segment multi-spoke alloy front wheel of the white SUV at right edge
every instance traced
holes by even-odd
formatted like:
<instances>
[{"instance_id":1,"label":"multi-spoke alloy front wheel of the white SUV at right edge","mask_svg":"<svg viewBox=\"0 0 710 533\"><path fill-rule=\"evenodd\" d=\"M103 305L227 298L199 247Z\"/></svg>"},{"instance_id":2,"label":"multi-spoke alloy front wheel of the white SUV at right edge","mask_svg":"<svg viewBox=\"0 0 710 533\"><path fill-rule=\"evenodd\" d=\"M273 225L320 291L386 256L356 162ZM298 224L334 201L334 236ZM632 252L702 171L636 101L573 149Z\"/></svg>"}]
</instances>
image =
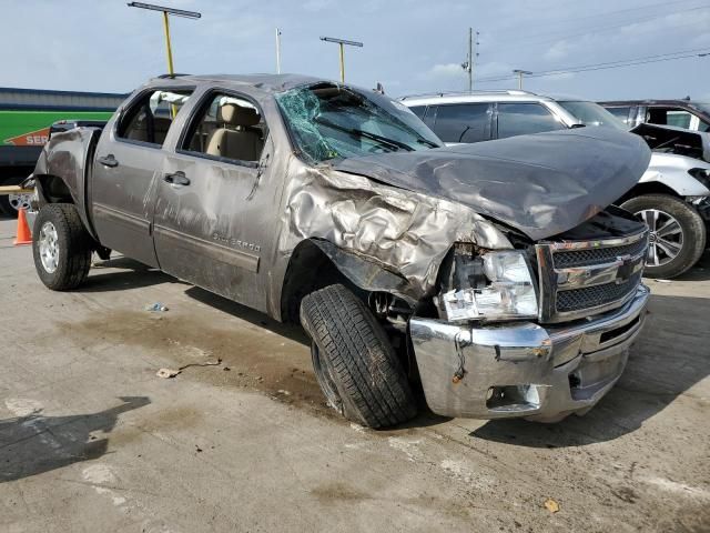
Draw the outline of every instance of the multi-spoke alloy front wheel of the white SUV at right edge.
<instances>
[{"instance_id":1,"label":"multi-spoke alloy front wheel of the white SUV at right edge","mask_svg":"<svg viewBox=\"0 0 710 533\"><path fill-rule=\"evenodd\" d=\"M706 249L706 225L696 209L669 194L643 194L621 204L650 230L645 273L649 278L676 278L698 262ZM674 224L673 224L674 222ZM662 231L667 233L663 235ZM673 233L668 233L674 229ZM671 247L672 244L672 247ZM671 257L672 253L677 253Z\"/></svg>"}]
</instances>

